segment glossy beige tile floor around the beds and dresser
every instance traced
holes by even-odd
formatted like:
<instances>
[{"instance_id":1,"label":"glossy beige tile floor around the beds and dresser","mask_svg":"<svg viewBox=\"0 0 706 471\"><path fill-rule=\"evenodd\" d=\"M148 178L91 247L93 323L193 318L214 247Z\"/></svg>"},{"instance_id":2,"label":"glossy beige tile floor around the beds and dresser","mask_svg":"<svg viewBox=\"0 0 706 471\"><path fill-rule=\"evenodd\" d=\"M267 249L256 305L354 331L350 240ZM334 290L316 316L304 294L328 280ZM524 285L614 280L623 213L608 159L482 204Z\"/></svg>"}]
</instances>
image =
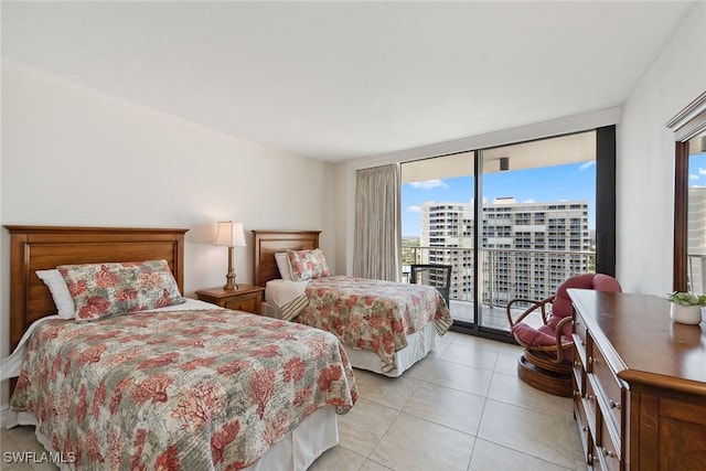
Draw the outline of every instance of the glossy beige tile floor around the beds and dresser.
<instances>
[{"instance_id":1,"label":"glossy beige tile floor around the beds and dresser","mask_svg":"<svg viewBox=\"0 0 706 471\"><path fill-rule=\"evenodd\" d=\"M359 403L339 416L339 446L310 470L586 470L571 400L520 382L520 354L448 332L399 378L356 370ZM2 451L43 450L32 427L3 429L0 438Z\"/></svg>"}]
</instances>

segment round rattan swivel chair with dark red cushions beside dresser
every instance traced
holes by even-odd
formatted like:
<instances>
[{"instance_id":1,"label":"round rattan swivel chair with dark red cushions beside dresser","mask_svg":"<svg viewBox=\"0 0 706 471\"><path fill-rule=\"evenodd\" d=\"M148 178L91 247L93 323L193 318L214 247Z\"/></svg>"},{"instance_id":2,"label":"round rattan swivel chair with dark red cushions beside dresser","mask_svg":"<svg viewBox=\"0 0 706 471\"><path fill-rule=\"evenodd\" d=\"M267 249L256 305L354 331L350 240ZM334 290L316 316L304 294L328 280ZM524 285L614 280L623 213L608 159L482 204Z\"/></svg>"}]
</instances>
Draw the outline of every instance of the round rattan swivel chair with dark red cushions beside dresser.
<instances>
[{"instance_id":1,"label":"round rattan swivel chair with dark red cushions beside dresser","mask_svg":"<svg viewBox=\"0 0 706 471\"><path fill-rule=\"evenodd\" d=\"M574 342L571 340L571 300L569 288L621 291L613 277L602 274L585 274L568 278L556 295L541 301L513 299L507 303L510 332L525 351L517 362L517 375L528 385L556 396L571 396L571 368ZM516 303L531 303L513 319L512 308ZM533 313L542 318L542 325L532 327L525 319Z\"/></svg>"}]
</instances>

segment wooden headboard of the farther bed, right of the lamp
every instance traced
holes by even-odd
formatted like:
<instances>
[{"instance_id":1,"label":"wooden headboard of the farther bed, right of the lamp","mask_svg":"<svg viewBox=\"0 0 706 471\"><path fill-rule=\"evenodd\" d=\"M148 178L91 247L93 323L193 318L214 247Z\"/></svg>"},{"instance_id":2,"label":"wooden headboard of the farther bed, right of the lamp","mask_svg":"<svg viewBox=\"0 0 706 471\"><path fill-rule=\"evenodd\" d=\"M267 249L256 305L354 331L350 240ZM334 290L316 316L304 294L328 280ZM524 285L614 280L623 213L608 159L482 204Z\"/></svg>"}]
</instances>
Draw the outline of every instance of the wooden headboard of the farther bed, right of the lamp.
<instances>
[{"instance_id":1,"label":"wooden headboard of the farther bed, right of the lamp","mask_svg":"<svg viewBox=\"0 0 706 471\"><path fill-rule=\"evenodd\" d=\"M265 286L267 281L280 278L275 253L318 248L321 231L253 231L253 282Z\"/></svg>"}]
</instances>

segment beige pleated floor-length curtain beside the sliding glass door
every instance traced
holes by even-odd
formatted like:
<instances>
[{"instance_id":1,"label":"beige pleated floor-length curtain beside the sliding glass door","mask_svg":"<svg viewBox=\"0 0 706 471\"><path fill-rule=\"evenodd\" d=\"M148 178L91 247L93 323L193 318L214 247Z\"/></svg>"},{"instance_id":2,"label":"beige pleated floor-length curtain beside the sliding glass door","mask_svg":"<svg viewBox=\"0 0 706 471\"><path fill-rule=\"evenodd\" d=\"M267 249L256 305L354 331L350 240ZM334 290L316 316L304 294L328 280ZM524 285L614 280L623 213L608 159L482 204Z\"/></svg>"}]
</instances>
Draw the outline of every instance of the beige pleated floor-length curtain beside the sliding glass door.
<instances>
[{"instance_id":1,"label":"beige pleated floor-length curtain beside the sliding glass door","mask_svg":"<svg viewBox=\"0 0 706 471\"><path fill-rule=\"evenodd\" d=\"M353 276L400 279L402 222L399 165L357 171Z\"/></svg>"}]
</instances>

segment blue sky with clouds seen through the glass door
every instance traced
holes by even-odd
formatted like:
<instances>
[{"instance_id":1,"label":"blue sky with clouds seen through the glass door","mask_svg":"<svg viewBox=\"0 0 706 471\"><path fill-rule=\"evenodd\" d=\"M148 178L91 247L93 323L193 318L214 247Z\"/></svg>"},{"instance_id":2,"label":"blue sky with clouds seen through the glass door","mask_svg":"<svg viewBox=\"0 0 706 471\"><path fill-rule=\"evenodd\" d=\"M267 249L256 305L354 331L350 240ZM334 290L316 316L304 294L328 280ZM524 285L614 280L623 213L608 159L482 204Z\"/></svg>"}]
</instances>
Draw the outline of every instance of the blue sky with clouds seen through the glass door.
<instances>
[{"instance_id":1,"label":"blue sky with clouds seen through the glass door","mask_svg":"<svg viewBox=\"0 0 706 471\"><path fill-rule=\"evenodd\" d=\"M518 203L588 201L588 227L592 229L596 227L596 161L489 173L483 176L483 196L489 202L500 196L513 196ZM403 236L419 236L421 203L469 203L472 197L473 176L404 183Z\"/></svg>"}]
</instances>

